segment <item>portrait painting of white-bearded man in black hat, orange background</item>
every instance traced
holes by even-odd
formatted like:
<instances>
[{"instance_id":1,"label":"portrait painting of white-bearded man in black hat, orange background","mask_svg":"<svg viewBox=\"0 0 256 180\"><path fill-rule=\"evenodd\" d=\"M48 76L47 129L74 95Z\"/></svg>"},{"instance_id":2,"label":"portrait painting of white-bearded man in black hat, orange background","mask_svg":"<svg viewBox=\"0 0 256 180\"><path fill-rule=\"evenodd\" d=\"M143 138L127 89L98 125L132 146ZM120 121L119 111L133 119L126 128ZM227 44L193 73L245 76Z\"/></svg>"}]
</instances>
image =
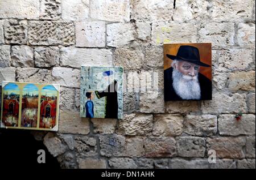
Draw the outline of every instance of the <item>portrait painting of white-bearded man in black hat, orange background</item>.
<instances>
[{"instance_id":1,"label":"portrait painting of white-bearded man in black hat, orange background","mask_svg":"<svg viewBox=\"0 0 256 180\"><path fill-rule=\"evenodd\" d=\"M164 44L164 100L212 100L212 45Z\"/></svg>"}]
</instances>

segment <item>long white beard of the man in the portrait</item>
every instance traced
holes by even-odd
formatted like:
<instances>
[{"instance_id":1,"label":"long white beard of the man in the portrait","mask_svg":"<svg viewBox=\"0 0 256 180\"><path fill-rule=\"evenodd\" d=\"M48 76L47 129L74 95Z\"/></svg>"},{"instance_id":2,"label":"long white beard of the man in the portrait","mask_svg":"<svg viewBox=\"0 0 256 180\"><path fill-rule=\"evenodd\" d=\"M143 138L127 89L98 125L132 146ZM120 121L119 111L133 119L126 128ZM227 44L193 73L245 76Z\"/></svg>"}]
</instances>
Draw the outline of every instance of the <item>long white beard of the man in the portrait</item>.
<instances>
[{"instance_id":1,"label":"long white beard of the man in the portrait","mask_svg":"<svg viewBox=\"0 0 256 180\"><path fill-rule=\"evenodd\" d=\"M183 100L199 100L201 98L198 75L194 77L183 75L174 68L172 72L172 86L176 94Z\"/></svg>"}]
</instances>

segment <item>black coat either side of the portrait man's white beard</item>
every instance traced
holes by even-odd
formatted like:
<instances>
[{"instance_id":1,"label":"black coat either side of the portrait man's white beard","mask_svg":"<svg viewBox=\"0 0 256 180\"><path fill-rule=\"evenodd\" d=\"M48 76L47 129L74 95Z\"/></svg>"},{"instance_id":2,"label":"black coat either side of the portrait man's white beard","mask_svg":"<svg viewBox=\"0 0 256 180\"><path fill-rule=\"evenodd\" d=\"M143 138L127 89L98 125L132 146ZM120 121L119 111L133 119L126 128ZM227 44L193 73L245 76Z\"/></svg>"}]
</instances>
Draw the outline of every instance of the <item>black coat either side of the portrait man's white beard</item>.
<instances>
[{"instance_id":1,"label":"black coat either side of the portrait man's white beard","mask_svg":"<svg viewBox=\"0 0 256 180\"><path fill-rule=\"evenodd\" d=\"M172 87L172 71L174 68L170 67L164 70L164 100L165 101L179 101L183 100L176 94L174 87ZM212 100L212 82L199 72L199 84L201 88L200 100Z\"/></svg>"}]
</instances>

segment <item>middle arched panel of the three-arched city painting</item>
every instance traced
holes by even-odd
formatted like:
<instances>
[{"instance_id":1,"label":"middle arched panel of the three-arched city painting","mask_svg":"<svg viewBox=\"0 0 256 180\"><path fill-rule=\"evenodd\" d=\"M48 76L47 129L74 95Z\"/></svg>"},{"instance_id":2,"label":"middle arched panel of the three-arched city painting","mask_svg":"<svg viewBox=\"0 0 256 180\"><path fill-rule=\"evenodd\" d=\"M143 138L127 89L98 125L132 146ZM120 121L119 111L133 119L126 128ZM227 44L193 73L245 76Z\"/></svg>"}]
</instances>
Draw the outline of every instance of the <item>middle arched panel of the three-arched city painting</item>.
<instances>
[{"instance_id":1,"label":"middle arched panel of the three-arched city painting","mask_svg":"<svg viewBox=\"0 0 256 180\"><path fill-rule=\"evenodd\" d=\"M36 127L38 122L38 87L27 84L22 91L22 127Z\"/></svg>"}]
</instances>

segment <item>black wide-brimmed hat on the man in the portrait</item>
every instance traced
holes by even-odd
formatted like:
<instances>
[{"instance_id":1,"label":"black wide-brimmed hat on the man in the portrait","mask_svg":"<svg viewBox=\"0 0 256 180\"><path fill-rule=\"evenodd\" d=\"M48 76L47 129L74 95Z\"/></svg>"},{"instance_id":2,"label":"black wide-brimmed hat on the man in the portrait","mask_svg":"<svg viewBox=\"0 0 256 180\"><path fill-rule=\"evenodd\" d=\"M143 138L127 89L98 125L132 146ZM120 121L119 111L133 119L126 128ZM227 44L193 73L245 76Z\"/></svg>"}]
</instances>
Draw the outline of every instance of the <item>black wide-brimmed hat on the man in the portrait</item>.
<instances>
[{"instance_id":1,"label":"black wide-brimmed hat on the man in the portrait","mask_svg":"<svg viewBox=\"0 0 256 180\"><path fill-rule=\"evenodd\" d=\"M200 61L199 50L194 46L180 46L177 55L167 54L167 57L177 61L187 61L199 66L210 67L209 65Z\"/></svg>"}]
</instances>

